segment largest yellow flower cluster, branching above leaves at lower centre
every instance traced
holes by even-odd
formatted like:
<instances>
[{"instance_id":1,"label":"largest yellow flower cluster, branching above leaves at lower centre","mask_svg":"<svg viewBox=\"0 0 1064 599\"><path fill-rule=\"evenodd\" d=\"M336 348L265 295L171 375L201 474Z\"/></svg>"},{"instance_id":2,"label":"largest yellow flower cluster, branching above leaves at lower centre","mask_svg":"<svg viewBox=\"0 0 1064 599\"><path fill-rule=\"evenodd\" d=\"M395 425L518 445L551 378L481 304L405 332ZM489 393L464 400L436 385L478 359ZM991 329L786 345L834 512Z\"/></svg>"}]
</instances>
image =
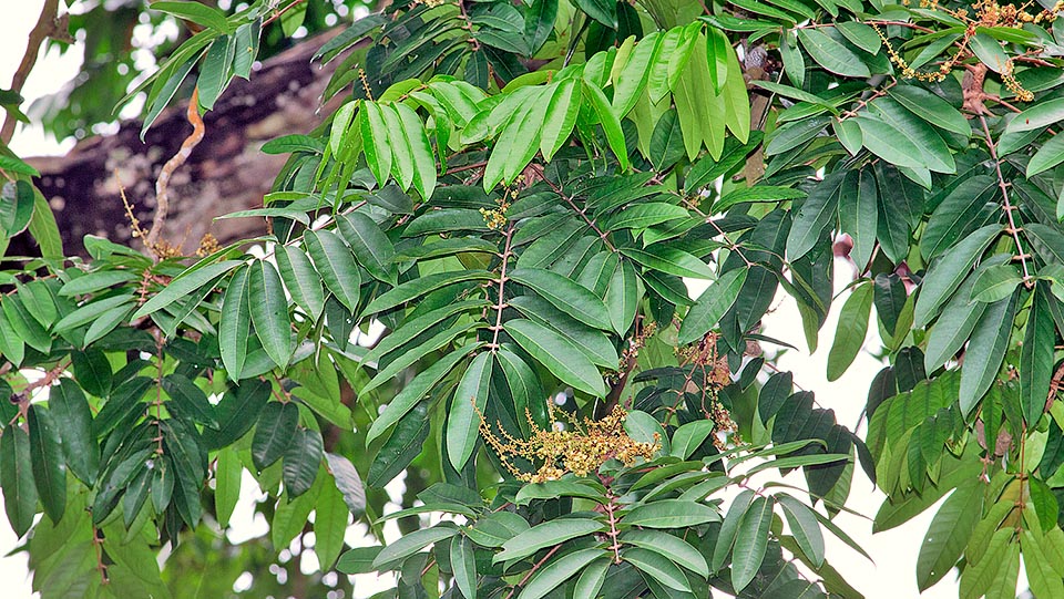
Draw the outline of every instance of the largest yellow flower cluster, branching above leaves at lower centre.
<instances>
[{"instance_id":1,"label":"largest yellow flower cluster, branching above leaves at lower centre","mask_svg":"<svg viewBox=\"0 0 1064 599\"><path fill-rule=\"evenodd\" d=\"M550 404L548 414L551 422L554 422L554 410ZM480 419L480 434L495 450L507 469L525 483L556 481L566 473L586 476L596 472L608 459L618 459L631 466L637 458L652 459L662 448L657 433L654 434L653 443L635 441L625 433L624 420L627 412L620 405L597 422L584 419L583 426L571 420L566 423L571 430L540 428L528 410L525 417L529 419L532 431L530 438L516 438L500 425L499 431L504 441L495 435L483 415ZM513 465L512 457L523 457L540 466L535 472L522 472Z\"/></svg>"}]
</instances>

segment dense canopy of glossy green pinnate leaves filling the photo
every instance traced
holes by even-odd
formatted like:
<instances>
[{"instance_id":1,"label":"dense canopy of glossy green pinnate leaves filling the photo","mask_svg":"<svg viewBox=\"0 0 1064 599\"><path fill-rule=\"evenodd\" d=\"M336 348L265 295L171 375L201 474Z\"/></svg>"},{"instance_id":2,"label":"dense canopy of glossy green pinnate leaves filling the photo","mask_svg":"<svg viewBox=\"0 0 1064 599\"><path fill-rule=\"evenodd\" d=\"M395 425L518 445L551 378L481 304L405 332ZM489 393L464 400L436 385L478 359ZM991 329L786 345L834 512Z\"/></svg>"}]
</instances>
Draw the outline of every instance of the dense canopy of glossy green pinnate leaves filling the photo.
<instances>
[{"instance_id":1,"label":"dense canopy of glossy green pinnate leaves filling the photo","mask_svg":"<svg viewBox=\"0 0 1064 599\"><path fill-rule=\"evenodd\" d=\"M153 3L200 31L129 91L144 127L253 76L306 8L283 4ZM832 521L859 462L877 530L949 494L921 589L960 565L963 597L1012 597L1022 556L1064 596L1060 10L392 2L315 56L327 122L263 147L290 158L228 217L268 233L200 259L65 257L6 152L0 226L42 255L0 301L0 486L34 586L187 593L247 471L272 551L313 531L321 571L396 572L381 597L859 597L823 540L863 552ZM863 438L763 354L794 349L760 332L779 288L818 349L837 252L828 376L870 326L889 362ZM805 488L758 476L795 468ZM371 539L345 550L351 518Z\"/></svg>"}]
</instances>

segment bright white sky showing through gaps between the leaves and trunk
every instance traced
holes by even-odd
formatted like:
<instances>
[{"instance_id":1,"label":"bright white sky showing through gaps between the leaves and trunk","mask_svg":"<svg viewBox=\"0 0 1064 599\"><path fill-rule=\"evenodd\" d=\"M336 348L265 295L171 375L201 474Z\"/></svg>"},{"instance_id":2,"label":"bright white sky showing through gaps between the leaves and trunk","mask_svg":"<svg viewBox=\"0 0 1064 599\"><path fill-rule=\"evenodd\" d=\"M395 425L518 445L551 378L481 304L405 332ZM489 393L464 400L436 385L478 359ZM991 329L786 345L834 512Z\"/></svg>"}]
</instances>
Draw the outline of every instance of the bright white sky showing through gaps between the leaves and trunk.
<instances>
[{"instance_id":1,"label":"bright white sky showing through gaps between the leaves and trunk","mask_svg":"<svg viewBox=\"0 0 1064 599\"><path fill-rule=\"evenodd\" d=\"M27 35L33 23L37 22L42 0L8 0L4 3L3 19L0 19L0 87L7 87L11 81L11 76L22 58ZM73 49L62 58L54 52L42 56L23 89L23 96L27 97L28 102L40 95L58 91L64 82L76 73L81 54L79 49ZM68 142L60 145L54 140L47 138L40 131L19 130L11 145L16 152L25 157L63 154L71 144ZM837 262L837 285L843 287L851 277L852 269L845 262ZM782 298L785 296L778 298L774 304L774 311L765 319L765 333L789 341L796 347L805 348L798 311L794 302L785 301ZM835 309L821 330L820 350L812 357L805 355L804 352L791 351L782 357L779 366L782 370L791 370L798 385L806 390L816 391L817 402L823 407L833 409L839 422L847 427L852 427L858 422L864 406L869 382L882 364L868 352L861 352L845 376L833 383L827 382L825 375L827 353L835 334L838 308L843 300L845 297L836 300ZM874 324L870 329L867 347L874 349L878 347L879 339L874 338L877 334ZM254 485L254 482L247 473L245 473L245 476L244 488L248 489ZM248 493L244 499L233 517L234 529L231 531L229 538L234 541L258 536L266 531L265 521L253 521L252 518L254 493ZM920 543L934 509L925 512L906 526L873 537L871 535L871 517L876 514L882 499L883 495L873 489L872 484L864 477L863 471L860 467L855 468L852 490L847 505L867 515L868 519L842 514L836 521L871 554L876 562L869 562L841 541L835 540L829 533L825 533L828 539L828 560L868 599L918 597L915 560ZM2 498L0 498L0 505L2 505ZM262 519L262 516L259 516L259 519ZM357 535L351 533L355 533L354 527L347 538L349 541L356 541ZM34 597L30 590L24 554L2 557L18 546L19 539L14 538L6 517L0 516L0 580L3 581L3 597L7 599ZM1022 572L1021 577L1023 577ZM361 592L358 595L361 595ZM925 599L955 599L956 583L953 576L948 575L942 582L920 597Z\"/></svg>"}]
</instances>

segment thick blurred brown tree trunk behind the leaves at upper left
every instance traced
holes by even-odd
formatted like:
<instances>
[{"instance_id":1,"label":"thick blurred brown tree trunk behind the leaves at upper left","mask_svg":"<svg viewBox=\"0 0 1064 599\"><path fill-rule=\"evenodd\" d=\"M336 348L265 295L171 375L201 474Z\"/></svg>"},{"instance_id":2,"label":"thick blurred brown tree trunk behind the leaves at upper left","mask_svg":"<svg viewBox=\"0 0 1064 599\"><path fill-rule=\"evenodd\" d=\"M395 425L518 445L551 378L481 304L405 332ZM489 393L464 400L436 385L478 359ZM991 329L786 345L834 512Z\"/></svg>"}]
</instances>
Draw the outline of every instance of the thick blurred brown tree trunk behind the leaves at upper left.
<instances>
[{"instance_id":1,"label":"thick blurred brown tree trunk behind the leaves at upper left","mask_svg":"<svg viewBox=\"0 0 1064 599\"><path fill-rule=\"evenodd\" d=\"M234 80L204 116L204 141L171 179L163 239L190 255L207 233L224 245L265 231L262 219L214 218L263 205L263 196L287 159L287 155L262 154L263 143L278 135L307 133L321 122L321 115L329 114L330 106L315 109L332 70L311 64L310 56L332 34L267 60L253 72L250 82ZM68 255L83 252L86 234L144 249L132 240L119 182L146 230L160 169L192 131L186 105L184 99L164 111L144 142L139 137L141 122L129 121L116 134L85 140L66 156L27 161L41 172L37 184L55 213ZM38 255L30 244L20 236L12 240L9 254Z\"/></svg>"}]
</instances>

